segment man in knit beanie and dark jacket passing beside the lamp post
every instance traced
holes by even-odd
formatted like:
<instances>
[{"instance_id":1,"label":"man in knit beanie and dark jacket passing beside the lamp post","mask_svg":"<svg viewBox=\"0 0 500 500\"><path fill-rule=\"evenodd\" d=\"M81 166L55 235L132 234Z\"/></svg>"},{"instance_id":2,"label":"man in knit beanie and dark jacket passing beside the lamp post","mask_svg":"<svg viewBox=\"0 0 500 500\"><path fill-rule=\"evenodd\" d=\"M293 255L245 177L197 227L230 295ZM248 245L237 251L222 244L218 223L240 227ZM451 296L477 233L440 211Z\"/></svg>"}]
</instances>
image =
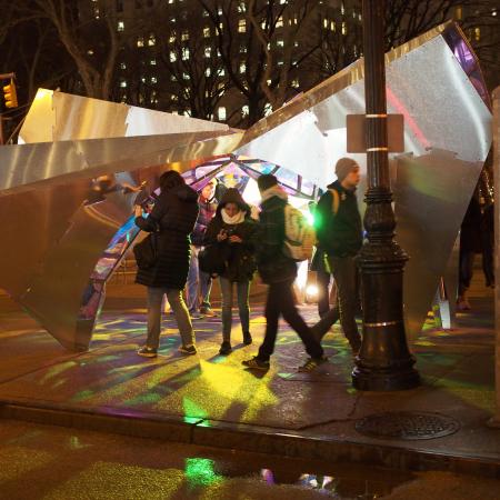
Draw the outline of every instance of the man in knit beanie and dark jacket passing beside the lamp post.
<instances>
[{"instance_id":1,"label":"man in knit beanie and dark jacket passing beside the lamp post","mask_svg":"<svg viewBox=\"0 0 500 500\"><path fill-rule=\"evenodd\" d=\"M362 224L356 198L360 181L359 166L351 158L341 158L336 164L337 180L328 186L316 209L318 244L326 254L338 288L338 304L314 327L321 340L323 326L340 318L342 330L352 352L358 353L361 337L354 314L359 299L354 257L362 246Z\"/></svg>"}]
</instances>

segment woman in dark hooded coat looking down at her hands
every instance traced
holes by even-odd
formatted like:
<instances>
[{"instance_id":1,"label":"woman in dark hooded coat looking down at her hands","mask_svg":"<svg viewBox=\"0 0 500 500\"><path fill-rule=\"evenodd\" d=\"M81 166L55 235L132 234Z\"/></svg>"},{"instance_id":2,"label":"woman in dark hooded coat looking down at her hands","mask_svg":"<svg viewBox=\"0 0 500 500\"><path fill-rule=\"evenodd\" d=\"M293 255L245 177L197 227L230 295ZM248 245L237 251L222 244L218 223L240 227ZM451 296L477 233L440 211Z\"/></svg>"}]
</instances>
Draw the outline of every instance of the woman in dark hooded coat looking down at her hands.
<instances>
[{"instance_id":1,"label":"woman in dark hooded coat looking down at her hands","mask_svg":"<svg viewBox=\"0 0 500 500\"><path fill-rule=\"evenodd\" d=\"M219 272L222 293L222 346L219 352L223 356L231 352L233 283L237 283L243 343L252 343L248 298L250 281L257 269L253 258L256 228L256 222L250 218L250 207L237 189L228 189L204 237L204 244L216 244L218 253L224 256L224 269Z\"/></svg>"}]
</instances>

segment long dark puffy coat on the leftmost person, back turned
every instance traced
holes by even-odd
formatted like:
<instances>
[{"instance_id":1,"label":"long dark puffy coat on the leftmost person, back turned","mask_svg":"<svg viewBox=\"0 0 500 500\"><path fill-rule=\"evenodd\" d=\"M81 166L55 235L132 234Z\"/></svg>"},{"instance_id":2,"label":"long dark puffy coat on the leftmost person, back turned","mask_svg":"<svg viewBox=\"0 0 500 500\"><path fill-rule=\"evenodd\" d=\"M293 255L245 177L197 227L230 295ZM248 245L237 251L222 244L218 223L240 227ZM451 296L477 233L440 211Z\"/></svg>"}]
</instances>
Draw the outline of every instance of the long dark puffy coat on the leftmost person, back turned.
<instances>
[{"instance_id":1,"label":"long dark puffy coat on the leftmost person, back turned","mask_svg":"<svg viewBox=\"0 0 500 500\"><path fill-rule=\"evenodd\" d=\"M159 224L158 261L148 269L139 269L136 282L147 287L182 290L190 260L190 237L198 218L198 194L189 186L176 186L161 192L150 216L136 218L143 231L154 231Z\"/></svg>"}]
</instances>

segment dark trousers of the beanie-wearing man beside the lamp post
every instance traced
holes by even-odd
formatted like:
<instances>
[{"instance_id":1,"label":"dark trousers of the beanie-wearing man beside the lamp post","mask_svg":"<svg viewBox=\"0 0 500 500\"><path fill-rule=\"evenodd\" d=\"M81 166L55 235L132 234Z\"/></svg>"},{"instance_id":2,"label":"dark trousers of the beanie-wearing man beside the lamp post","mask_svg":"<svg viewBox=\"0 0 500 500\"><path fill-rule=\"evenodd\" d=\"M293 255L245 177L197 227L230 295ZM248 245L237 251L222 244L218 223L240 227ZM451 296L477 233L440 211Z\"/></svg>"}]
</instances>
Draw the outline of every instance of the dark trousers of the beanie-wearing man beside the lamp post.
<instances>
[{"instance_id":1,"label":"dark trousers of the beanie-wearing man beside the lamp post","mask_svg":"<svg viewBox=\"0 0 500 500\"><path fill-rule=\"evenodd\" d=\"M313 327L314 336L321 340L329 328L340 319L343 334L349 340L353 351L361 347L361 336L356 324L356 313L359 307L358 270L353 257L329 257L333 279L338 289L337 304Z\"/></svg>"}]
</instances>

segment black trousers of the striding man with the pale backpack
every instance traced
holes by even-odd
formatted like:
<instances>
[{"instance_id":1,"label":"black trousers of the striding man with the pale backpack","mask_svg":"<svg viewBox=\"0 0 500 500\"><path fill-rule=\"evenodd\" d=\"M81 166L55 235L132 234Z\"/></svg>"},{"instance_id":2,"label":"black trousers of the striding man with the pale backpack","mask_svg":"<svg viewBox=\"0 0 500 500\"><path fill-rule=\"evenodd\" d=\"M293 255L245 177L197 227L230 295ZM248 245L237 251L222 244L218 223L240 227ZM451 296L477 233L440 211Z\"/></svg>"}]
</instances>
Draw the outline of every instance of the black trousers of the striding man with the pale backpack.
<instances>
[{"instance_id":1,"label":"black trousers of the striding man with the pale backpack","mask_svg":"<svg viewBox=\"0 0 500 500\"><path fill-rule=\"evenodd\" d=\"M266 336L257 356L261 361L269 361L269 358L274 352L280 314L283 314L284 321L299 334L300 340L306 346L307 353L311 358L321 358L323 356L323 349L320 342L314 338L311 329L306 324L296 308L292 286L293 280L271 283L269 286L264 312Z\"/></svg>"}]
</instances>

